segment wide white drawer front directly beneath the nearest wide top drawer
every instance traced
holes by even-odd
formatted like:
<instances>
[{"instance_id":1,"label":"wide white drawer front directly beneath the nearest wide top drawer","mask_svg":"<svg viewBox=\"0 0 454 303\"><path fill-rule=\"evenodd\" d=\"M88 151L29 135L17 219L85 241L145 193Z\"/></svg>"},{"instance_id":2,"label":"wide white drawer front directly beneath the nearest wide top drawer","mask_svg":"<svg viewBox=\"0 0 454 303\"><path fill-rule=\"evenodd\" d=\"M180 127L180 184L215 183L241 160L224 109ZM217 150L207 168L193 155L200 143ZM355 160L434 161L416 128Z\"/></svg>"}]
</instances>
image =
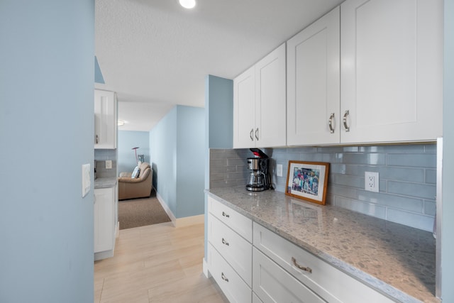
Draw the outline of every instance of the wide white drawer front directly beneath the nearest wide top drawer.
<instances>
[{"instance_id":1,"label":"wide white drawer front directly beneath the nearest wide top drawer","mask_svg":"<svg viewBox=\"0 0 454 303\"><path fill-rule=\"evenodd\" d=\"M263 303L326 302L256 248L253 258L253 291Z\"/></svg>"}]
</instances>

